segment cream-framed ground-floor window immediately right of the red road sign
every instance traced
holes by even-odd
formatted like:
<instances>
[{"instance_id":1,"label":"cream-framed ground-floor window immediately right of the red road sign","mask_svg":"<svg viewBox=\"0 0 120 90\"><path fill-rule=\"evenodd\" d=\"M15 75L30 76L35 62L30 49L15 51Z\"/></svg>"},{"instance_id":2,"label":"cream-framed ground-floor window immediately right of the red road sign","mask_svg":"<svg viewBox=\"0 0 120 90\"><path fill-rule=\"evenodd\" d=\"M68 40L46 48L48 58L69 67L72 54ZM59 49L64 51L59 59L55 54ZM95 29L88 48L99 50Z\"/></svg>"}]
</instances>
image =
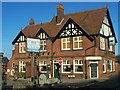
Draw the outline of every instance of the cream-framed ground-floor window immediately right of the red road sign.
<instances>
[{"instance_id":1,"label":"cream-framed ground-floor window immediately right of the red road sign","mask_svg":"<svg viewBox=\"0 0 120 90\"><path fill-rule=\"evenodd\" d=\"M70 70L71 70L70 61L63 60L62 73L70 73Z\"/></svg>"}]
</instances>

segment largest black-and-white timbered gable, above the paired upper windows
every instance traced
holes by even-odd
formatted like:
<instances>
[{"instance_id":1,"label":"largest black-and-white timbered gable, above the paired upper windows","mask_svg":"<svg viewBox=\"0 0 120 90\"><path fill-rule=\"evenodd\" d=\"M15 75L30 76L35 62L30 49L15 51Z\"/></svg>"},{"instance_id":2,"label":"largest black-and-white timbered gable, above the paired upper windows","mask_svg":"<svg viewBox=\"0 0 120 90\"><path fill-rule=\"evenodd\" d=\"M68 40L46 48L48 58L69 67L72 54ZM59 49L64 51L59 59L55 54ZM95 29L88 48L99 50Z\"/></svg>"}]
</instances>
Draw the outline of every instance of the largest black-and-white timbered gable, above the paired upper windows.
<instances>
[{"instance_id":1,"label":"largest black-and-white timbered gable, above the paired upper windows","mask_svg":"<svg viewBox=\"0 0 120 90\"><path fill-rule=\"evenodd\" d=\"M93 38L90 35L88 35L76 22L69 18L61 30L58 32L58 34L55 36L55 40L57 38L74 37L80 35L85 35L90 41L93 41Z\"/></svg>"}]
</instances>

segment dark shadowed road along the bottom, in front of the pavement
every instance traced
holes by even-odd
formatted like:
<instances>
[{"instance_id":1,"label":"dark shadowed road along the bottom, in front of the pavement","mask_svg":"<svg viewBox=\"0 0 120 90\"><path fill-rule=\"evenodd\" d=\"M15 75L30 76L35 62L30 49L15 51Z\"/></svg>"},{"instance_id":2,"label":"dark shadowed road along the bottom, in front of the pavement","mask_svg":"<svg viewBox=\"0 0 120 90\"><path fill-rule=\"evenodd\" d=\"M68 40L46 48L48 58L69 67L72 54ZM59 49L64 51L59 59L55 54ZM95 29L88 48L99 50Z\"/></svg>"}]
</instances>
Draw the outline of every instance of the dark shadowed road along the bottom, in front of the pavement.
<instances>
[{"instance_id":1,"label":"dark shadowed road along the bottom, in front of the pavement","mask_svg":"<svg viewBox=\"0 0 120 90\"><path fill-rule=\"evenodd\" d=\"M7 86L10 88L11 86ZM120 90L120 75L112 76L109 79L96 79L96 80L89 80L87 82L77 82L77 83L59 83L52 85L44 85L43 87L27 87L24 90L33 90L33 89L46 89L46 90L56 90L56 89L80 89L80 90L100 90L100 89L107 89L107 90ZM12 89L9 89L12 90Z\"/></svg>"}]
</instances>

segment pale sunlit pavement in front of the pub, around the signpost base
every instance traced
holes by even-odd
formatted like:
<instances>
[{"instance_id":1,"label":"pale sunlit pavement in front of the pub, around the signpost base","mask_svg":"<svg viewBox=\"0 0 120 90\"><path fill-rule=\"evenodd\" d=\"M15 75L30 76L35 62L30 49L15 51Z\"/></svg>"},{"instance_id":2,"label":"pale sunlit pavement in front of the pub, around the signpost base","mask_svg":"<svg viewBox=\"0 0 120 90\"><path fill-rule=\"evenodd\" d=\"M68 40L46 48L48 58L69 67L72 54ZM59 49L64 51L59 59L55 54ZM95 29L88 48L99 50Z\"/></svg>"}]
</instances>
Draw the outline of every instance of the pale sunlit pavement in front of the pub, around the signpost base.
<instances>
[{"instance_id":1,"label":"pale sunlit pavement in front of the pub, around the signpost base","mask_svg":"<svg viewBox=\"0 0 120 90\"><path fill-rule=\"evenodd\" d=\"M57 78L51 78L51 79L46 79L46 80L39 80L39 88L64 88L64 87L69 87L74 88L77 86L89 86L93 83L98 83L98 82L104 82L105 80L108 80L109 78L101 78L101 79L81 79L81 78L62 78L61 82ZM31 79L23 79L19 78L18 80L14 81L13 79L8 79L7 80L7 88L13 88L13 89L25 89L27 88L33 88L33 83L31 82ZM12 90L12 89L9 89Z\"/></svg>"}]
</instances>

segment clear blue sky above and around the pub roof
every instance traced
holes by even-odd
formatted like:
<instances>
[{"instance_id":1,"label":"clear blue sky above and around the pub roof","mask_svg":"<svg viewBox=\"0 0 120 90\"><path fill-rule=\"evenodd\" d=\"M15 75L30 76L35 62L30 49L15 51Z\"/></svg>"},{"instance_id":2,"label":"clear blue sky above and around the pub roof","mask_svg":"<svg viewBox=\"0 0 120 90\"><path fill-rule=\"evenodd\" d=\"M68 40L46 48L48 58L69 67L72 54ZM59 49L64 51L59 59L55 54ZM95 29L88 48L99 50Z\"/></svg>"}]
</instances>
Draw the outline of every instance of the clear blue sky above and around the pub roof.
<instances>
[{"instance_id":1,"label":"clear blue sky above and around the pub roof","mask_svg":"<svg viewBox=\"0 0 120 90\"><path fill-rule=\"evenodd\" d=\"M108 5L118 39L117 2L61 2L61 4L64 6L65 14L102 8ZM12 41L21 28L24 29L28 25L30 18L35 20L35 24L49 22L57 14L57 5L58 2L2 2L2 52L4 52L4 55L11 58ZM115 54L118 54L118 44Z\"/></svg>"}]
</instances>

